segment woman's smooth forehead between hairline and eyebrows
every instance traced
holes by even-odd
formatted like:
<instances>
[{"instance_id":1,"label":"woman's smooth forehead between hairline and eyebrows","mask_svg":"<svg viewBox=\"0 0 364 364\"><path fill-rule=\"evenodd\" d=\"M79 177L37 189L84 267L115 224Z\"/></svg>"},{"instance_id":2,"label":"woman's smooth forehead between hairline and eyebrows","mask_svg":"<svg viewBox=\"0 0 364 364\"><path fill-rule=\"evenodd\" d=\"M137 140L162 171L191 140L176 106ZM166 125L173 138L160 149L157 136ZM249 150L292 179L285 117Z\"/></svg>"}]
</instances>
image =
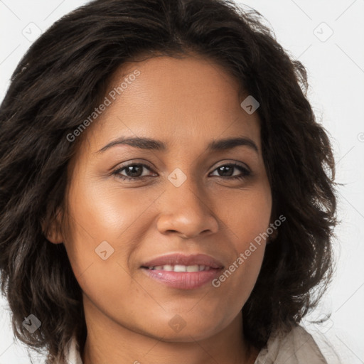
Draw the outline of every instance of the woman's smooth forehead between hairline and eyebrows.
<instances>
[{"instance_id":1,"label":"woman's smooth forehead between hairline and eyebrows","mask_svg":"<svg viewBox=\"0 0 364 364\"><path fill-rule=\"evenodd\" d=\"M120 136L191 149L243 135L260 149L257 112L247 114L240 106L247 95L240 94L239 83L224 68L200 56L124 63L105 97L107 107L87 130L94 152Z\"/></svg>"}]
</instances>

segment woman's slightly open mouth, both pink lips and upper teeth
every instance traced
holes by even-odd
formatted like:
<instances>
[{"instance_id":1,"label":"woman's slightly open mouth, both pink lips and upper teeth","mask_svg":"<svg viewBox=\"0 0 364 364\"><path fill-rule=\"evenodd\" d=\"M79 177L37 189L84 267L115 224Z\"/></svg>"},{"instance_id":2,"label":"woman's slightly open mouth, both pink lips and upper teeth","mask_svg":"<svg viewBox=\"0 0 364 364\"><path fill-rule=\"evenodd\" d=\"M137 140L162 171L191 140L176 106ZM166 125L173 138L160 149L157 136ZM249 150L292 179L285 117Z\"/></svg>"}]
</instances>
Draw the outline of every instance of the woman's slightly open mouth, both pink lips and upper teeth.
<instances>
[{"instance_id":1,"label":"woman's slightly open mouth, both pink lips and upper teeth","mask_svg":"<svg viewBox=\"0 0 364 364\"><path fill-rule=\"evenodd\" d=\"M140 267L147 277L176 289L197 289L218 277L223 264L209 255L171 254Z\"/></svg>"}]
</instances>

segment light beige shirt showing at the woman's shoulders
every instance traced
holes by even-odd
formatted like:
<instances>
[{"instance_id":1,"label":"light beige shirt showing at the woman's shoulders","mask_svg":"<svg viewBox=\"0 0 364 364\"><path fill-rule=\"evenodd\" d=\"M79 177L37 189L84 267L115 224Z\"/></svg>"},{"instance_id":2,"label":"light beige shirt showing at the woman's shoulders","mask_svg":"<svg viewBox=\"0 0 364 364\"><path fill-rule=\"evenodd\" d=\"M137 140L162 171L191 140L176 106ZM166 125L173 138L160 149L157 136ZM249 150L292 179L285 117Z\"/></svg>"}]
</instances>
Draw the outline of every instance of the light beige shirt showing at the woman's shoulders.
<instances>
[{"instance_id":1,"label":"light beige shirt showing at the woman's shoulders","mask_svg":"<svg viewBox=\"0 0 364 364\"><path fill-rule=\"evenodd\" d=\"M82 364L77 341L73 338L66 350L67 364ZM303 327L289 333L273 333L260 350L255 364L327 364L314 338Z\"/></svg>"}]
</instances>

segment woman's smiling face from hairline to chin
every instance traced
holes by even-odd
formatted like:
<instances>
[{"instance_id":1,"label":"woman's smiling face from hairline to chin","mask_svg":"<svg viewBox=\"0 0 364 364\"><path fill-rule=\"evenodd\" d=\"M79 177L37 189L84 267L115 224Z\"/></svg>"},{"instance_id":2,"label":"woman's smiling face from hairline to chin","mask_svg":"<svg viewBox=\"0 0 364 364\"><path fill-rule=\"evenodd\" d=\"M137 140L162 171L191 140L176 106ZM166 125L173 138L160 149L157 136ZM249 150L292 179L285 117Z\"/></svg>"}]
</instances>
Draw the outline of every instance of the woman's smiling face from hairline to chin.
<instances>
[{"instance_id":1,"label":"woman's smiling face from hairline to chin","mask_svg":"<svg viewBox=\"0 0 364 364\"><path fill-rule=\"evenodd\" d=\"M272 209L257 112L242 109L247 95L223 68L195 56L124 64L105 96L69 166L60 240L86 319L164 341L208 338L241 319L264 255L264 240L251 245Z\"/></svg>"}]
</instances>

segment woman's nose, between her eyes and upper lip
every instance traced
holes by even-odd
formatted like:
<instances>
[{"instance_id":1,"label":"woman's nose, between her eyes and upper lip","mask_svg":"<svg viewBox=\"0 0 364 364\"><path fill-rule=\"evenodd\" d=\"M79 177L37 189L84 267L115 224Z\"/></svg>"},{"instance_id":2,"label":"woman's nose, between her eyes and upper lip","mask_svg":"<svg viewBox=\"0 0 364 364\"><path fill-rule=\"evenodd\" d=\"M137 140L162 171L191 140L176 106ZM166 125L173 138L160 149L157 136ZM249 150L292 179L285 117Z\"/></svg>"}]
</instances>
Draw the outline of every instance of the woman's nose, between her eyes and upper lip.
<instances>
[{"instance_id":1,"label":"woman's nose, between her eyes and upper lip","mask_svg":"<svg viewBox=\"0 0 364 364\"><path fill-rule=\"evenodd\" d=\"M218 218L211 203L191 178L179 187L168 185L159 203L162 213L157 228L162 234L175 233L192 238L218 232Z\"/></svg>"}]
</instances>

